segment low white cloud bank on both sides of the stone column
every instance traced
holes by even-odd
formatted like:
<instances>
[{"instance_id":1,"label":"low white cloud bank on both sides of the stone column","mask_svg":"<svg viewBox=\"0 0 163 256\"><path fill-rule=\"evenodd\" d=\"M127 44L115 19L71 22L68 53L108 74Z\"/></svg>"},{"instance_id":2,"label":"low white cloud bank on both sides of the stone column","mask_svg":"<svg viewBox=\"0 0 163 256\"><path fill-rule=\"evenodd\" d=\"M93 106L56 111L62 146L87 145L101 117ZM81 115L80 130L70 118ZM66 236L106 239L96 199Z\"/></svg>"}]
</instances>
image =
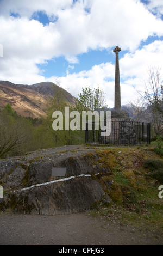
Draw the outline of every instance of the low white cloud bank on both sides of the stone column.
<instances>
[{"instance_id":1,"label":"low white cloud bank on both sides of the stone column","mask_svg":"<svg viewBox=\"0 0 163 256\"><path fill-rule=\"evenodd\" d=\"M122 105L139 96L135 89L143 91L143 81L148 78L148 69L152 65L163 67L162 59L163 45L161 41L154 41L135 53L125 54L120 59ZM76 97L82 92L82 87L97 88L99 86L106 94L109 107L114 107L115 65L112 63L95 65L90 70L67 74L58 79L61 86L65 89L70 88L70 93ZM55 82L56 77L51 77L50 80Z\"/></svg>"}]
</instances>

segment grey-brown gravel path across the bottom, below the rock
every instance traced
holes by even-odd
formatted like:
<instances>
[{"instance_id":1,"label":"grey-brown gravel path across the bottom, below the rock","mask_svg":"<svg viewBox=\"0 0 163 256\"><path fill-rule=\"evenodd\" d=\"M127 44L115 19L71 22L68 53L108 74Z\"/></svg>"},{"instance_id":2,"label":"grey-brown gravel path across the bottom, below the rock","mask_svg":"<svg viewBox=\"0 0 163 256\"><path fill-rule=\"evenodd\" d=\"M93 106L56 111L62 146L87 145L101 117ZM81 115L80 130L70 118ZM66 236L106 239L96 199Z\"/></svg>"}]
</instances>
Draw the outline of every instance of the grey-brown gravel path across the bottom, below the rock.
<instances>
[{"instance_id":1,"label":"grey-brown gravel path across the bottom, below the rock","mask_svg":"<svg viewBox=\"0 0 163 256\"><path fill-rule=\"evenodd\" d=\"M0 214L0 245L162 245L163 235L86 213Z\"/></svg>"}]
</instances>

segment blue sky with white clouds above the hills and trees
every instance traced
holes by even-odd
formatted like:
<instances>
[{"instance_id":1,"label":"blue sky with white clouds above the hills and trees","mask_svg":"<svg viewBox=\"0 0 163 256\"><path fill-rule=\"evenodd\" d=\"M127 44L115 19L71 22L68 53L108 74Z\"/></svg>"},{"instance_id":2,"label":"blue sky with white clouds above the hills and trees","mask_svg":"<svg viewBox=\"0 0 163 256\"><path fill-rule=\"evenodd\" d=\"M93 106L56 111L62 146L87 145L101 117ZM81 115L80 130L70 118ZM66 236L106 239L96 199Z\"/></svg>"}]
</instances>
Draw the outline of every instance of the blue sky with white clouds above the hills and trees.
<instances>
[{"instance_id":1,"label":"blue sky with white clouds above the hills and trees","mask_svg":"<svg viewBox=\"0 0 163 256\"><path fill-rule=\"evenodd\" d=\"M162 0L0 0L0 80L54 82L78 97L101 88L114 107L139 97L151 66L163 69Z\"/></svg>"}]
</instances>

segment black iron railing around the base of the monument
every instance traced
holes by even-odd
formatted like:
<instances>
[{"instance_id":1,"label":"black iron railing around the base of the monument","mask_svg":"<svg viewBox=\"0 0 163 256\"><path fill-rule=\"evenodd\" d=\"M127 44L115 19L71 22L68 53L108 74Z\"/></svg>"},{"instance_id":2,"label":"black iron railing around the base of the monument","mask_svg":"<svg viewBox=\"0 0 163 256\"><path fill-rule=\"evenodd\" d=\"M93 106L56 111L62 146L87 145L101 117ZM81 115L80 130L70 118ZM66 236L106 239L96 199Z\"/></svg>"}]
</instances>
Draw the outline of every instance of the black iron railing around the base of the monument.
<instances>
[{"instance_id":1,"label":"black iron railing around the base of the monument","mask_svg":"<svg viewBox=\"0 0 163 256\"><path fill-rule=\"evenodd\" d=\"M136 121L111 121L109 136L101 136L99 127L95 129L95 122L86 123L85 143L104 145L145 145L150 144L150 123Z\"/></svg>"}]
</instances>

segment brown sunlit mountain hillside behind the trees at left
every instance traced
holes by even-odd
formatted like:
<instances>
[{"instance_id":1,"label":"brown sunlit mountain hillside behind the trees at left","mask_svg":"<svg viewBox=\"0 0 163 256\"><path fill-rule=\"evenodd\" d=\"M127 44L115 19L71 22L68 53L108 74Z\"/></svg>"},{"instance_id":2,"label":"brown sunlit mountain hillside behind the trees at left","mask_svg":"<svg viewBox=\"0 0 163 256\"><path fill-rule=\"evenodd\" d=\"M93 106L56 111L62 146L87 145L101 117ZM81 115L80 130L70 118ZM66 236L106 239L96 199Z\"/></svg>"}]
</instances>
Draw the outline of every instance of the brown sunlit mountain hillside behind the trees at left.
<instances>
[{"instance_id":1,"label":"brown sunlit mountain hillside behind the trees at left","mask_svg":"<svg viewBox=\"0 0 163 256\"><path fill-rule=\"evenodd\" d=\"M46 115L46 105L58 86L52 82L32 85L0 81L0 109L10 103L14 111L23 117L40 118ZM60 88L60 90L64 90ZM75 98L65 91L65 100L74 105Z\"/></svg>"}]
</instances>

